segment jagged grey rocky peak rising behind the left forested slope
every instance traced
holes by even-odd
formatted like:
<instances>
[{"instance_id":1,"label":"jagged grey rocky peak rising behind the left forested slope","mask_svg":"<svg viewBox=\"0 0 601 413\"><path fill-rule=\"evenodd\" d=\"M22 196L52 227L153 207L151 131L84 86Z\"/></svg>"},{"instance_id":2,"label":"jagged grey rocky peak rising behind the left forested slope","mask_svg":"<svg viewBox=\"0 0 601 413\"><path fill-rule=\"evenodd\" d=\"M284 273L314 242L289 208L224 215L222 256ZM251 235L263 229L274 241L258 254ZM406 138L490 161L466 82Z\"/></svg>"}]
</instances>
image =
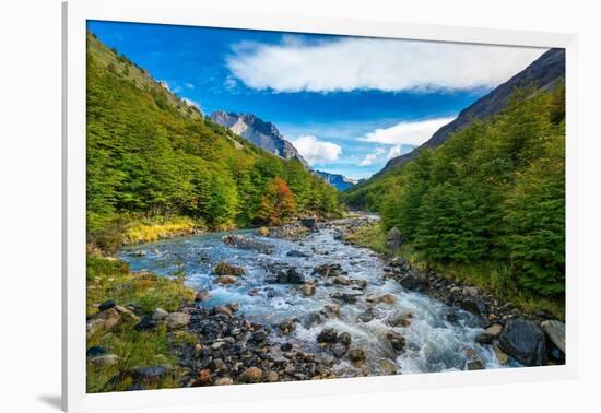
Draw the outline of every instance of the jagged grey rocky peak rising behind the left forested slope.
<instances>
[{"instance_id":1,"label":"jagged grey rocky peak rising behind the left forested slope","mask_svg":"<svg viewBox=\"0 0 601 413\"><path fill-rule=\"evenodd\" d=\"M296 148L280 133L275 125L259 119L252 114L233 114L217 110L211 114L211 120L232 132L245 138L255 145L284 160L296 160L308 170L311 167L296 151Z\"/></svg>"}]
</instances>

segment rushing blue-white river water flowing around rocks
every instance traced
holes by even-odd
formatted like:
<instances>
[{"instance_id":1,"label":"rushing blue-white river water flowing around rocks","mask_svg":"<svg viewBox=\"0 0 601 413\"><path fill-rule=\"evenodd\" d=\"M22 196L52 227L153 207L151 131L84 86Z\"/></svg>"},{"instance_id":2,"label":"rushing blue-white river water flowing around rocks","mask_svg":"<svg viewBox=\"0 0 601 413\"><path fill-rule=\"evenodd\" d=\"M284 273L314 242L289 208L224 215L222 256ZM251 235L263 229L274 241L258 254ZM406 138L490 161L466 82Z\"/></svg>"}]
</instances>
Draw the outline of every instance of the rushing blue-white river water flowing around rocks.
<instances>
[{"instance_id":1,"label":"rushing blue-white river water flowing around rocks","mask_svg":"<svg viewBox=\"0 0 601 413\"><path fill-rule=\"evenodd\" d=\"M190 287L209 292L209 298L199 302L199 306L212 308L238 303L239 311L248 320L273 326L270 339L274 342L292 342L319 355L323 351L316 339L323 329L349 332L353 346L366 352L366 361L360 368L345 357L337 358L333 370L339 377L463 370L474 352L487 369L507 367L499 363L492 346L474 342L484 331L481 320L427 295L404 290L394 280L386 280L386 263L378 255L337 239L335 225L337 222L332 222L302 240L261 237L254 231L174 238L127 247L119 258L128 262L132 271L161 275L182 272ZM273 250L261 253L226 245L222 237L228 234L269 244ZM291 257L290 251L300 251L308 257ZM222 261L245 269L237 284L215 282L212 269ZM337 285L314 273L316 267L327 263L339 263L346 279L356 280L354 284ZM314 280L315 295L303 295L299 285L270 282L273 274L269 269L282 264ZM362 283L364 287L356 285ZM337 293L353 295L356 302L341 303ZM386 295L392 295L393 299L378 299ZM337 305L339 317L319 317L326 306ZM408 322L394 326L390 322L394 318ZM282 335L276 326L293 319L298 320L296 329L290 335ZM387 338L391 331L405 339L404 351L396 352L391 347Z\"/></svg>"}]
</instances>

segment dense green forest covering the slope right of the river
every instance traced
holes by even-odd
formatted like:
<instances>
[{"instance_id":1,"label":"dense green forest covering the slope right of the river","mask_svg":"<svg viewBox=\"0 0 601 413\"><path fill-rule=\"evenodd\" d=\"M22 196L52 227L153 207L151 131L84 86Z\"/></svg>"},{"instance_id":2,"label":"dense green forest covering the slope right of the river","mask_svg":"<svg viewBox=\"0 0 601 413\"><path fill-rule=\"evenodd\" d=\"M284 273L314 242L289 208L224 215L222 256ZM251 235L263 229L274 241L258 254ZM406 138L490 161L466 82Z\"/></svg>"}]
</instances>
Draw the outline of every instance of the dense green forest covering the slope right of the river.
<instances>
[{"instance_id":1,"label":"dense green forest covering the slope right of the river","mask_svg":"<svg viewBox=\"0 0 601 413\"><path fill-rule=\"evenodd\" d=\"M552 299L565 281L565 98L516 90L499 115L345 194L426 262L490 262L500 288Z\"/></svg>"}]
</instances>

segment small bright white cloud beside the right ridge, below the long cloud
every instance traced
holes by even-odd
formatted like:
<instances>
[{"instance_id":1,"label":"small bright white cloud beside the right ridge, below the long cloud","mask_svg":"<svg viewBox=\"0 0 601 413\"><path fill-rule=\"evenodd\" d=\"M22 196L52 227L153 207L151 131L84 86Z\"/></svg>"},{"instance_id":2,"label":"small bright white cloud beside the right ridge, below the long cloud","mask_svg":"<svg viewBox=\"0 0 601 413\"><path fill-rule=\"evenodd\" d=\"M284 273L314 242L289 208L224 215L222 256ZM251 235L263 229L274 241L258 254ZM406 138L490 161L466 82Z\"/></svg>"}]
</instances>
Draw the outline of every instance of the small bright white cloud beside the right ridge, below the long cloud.
<instances>
[{"instance_id":1,"label":"small bright white cloud beside the right ridge, below the long cloud","mask_svg":"<svg viewBox=\"0 0 601 413\"><path fill-rule=\"evenodd\" d=\"M390 128L376 129L358 140L398 146L402 144L421 145L432 138L434 132L441 126L447 125L453 119L455 118L436 118L419 121L403 121ZM394 149L391 149L391 151L392 150ZM400 153L401 148L399 148L398 151Z\"/></svg>"}]
</instances>

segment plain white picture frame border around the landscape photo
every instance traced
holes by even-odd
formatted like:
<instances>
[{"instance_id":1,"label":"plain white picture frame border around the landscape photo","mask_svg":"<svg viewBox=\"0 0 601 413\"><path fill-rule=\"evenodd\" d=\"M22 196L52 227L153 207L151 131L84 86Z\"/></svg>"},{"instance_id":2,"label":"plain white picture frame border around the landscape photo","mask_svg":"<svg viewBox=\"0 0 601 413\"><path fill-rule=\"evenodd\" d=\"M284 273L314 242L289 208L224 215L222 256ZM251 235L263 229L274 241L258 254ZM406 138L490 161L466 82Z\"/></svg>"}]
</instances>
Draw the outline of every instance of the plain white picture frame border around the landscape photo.
<instances>
[{"instance_id":1,"label":"plain white picture frame border around the landscape photo","mask_svg":"<svg viewBox=\"0 0 601 413\"><path fill-rule=\"evenodd\" d=\"M193 389L94 393L85 390L85 42L86 21L123 21L358 35L438 42L566 49L566 364L481 371L347 378ZM68 411L161 408L220 401L373 393L450 386L576 378L578 373L577 93L578 39L573 34L314 19L205 10L186 0L78 1L63 3L63 237L62 406Z\"/></svg>"}]
</instances>

